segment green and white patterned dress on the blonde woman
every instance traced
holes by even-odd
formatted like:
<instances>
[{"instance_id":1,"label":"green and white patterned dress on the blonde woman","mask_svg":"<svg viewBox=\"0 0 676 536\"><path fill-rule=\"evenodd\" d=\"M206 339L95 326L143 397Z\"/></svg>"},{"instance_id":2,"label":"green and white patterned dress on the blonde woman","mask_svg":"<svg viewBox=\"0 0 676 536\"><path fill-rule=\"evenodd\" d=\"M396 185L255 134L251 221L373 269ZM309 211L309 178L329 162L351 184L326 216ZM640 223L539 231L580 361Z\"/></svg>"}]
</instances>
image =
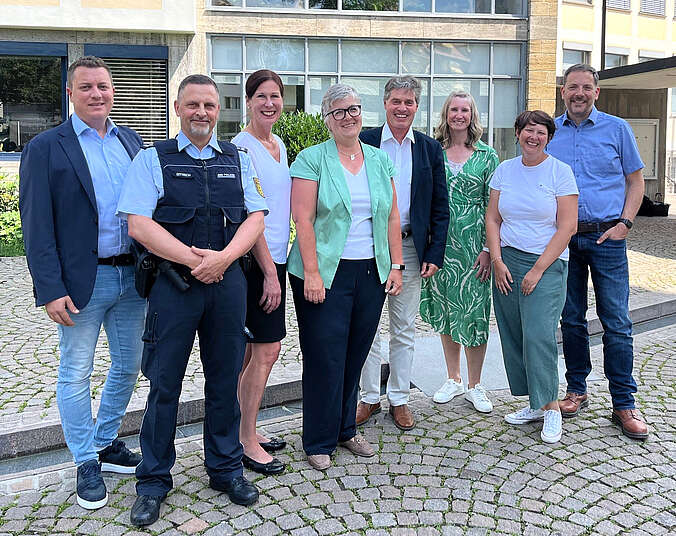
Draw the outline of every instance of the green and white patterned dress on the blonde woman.
<instances>
[{"instance_id":1,"label":"green and white patterned dress on the blonde woman","mask_svg":"<svg viewBox=\"0 0 676 536\"><path fill-rule=\"evenodd\" d=\"M484 224L491 175L500 163L494 149L478 141L457 175L444 153L450 220L443 267L423 279L420 316L434 330L464 346L488 341L490 279L481 283L472 265L486 241Z\"/></svg>"}]
</instances>

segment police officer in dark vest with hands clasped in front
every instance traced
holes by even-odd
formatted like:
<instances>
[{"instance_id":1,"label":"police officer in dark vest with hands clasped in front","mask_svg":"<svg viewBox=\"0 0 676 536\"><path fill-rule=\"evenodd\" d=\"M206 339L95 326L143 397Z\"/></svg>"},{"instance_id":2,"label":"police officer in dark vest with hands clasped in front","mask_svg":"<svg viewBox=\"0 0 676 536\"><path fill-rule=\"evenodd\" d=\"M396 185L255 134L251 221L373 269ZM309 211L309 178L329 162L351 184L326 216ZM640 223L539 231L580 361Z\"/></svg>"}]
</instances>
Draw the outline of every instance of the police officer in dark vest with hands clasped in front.
<instances>
[{"instance_id":1,"label":"police officer in dark vest with hands clasped in front","mask_svg":"<svg viewBox=\"0 0 676 536\"><path fill-rule=\"evenodd\" d=\"M129 234L171 261L189 283L181 290L161 272L148 297L141 370L150 380L141 425L143 463L136 470L131 522L149 525L172 488L176 413L188 357L199 333L204 368L204 461L209 485L250 505L256 488L242 476L237 376L245 349L246 283L238 259L263 231L267 206L251 161L214 126L218 87L204 75L185 78L174 109L175 139L134 159L118 205Z\"/></svg>"}]
</instances>

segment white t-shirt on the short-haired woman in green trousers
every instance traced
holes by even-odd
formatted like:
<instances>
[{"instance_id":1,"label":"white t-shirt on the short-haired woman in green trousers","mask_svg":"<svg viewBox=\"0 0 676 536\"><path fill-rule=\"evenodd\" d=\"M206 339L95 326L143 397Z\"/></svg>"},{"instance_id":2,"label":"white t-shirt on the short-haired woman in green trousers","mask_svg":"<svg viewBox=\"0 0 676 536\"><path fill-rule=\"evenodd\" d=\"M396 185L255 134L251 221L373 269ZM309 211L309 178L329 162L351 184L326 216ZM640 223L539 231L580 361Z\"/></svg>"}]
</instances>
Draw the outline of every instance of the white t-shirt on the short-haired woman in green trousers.
<instances>
[{"instance_id":1,"label":"white t-shirt on the short-haired woman in green trousers","mask_svg":"<svg viewBox=\"0 0 676 536\"><path fill-rule=\"evenodd\" d=\"M500 191L500 244L537 255L556 232L556 198L578 194L573 170L553 156L537 166L524 166L520 156L505 160L490 186ZM568 248L559 258L568 260Z\"/></svg>"}]
</instances>

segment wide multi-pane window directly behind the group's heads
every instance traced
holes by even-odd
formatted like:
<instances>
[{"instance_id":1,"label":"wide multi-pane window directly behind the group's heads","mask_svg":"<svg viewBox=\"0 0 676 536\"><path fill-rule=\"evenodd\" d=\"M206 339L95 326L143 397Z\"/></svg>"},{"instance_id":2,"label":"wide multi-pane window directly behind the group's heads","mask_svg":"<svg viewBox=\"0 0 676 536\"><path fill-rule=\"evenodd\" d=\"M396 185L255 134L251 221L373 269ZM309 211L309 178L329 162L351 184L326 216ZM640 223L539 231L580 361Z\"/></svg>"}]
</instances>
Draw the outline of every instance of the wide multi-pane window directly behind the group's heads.
<instances>
[{"instance_id":1,"label":"wide multi-pane window directly behind the group's heads","mask_svg":"<svg viewBox=\"0 0 676 536\"><path fill-rule=\"evenodd\" d=\"M319 112L331 84L353 86L362 99L365 128L385 122L384 87L393 75L412 74L422 82L413 126L430 135L449 93L468 91L479 108L484 141L501 158L516 155L514 118L523 109L519 43L214 36L211 74L221 92L220 138L232 138L246 121L244 81L260 68L282 77L287 111Z\"/></svg>"}]
</instances>

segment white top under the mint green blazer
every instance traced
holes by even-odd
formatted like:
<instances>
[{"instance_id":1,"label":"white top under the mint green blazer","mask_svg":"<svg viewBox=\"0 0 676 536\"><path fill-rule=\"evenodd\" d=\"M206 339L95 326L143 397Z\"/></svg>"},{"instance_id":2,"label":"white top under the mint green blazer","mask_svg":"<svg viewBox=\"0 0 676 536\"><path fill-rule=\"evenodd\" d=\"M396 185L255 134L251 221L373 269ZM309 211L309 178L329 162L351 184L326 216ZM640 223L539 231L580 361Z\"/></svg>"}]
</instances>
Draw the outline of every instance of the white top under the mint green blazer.
<instances>
[{"instance_id":1,"label":"white top under the mint green blazer","mask_svg":"<svg viewBox=\"0 0 676 536\"><path fill-rule=\"evenodd\" d=\"M362 164L356 175L343 167L345 182L350 190L352 201L352 224L347 234L341 259L372 259L376 256L373 245L373 216L371 214L371 192L366 175L366 166Z\"/></svg>"}]
</instances>

